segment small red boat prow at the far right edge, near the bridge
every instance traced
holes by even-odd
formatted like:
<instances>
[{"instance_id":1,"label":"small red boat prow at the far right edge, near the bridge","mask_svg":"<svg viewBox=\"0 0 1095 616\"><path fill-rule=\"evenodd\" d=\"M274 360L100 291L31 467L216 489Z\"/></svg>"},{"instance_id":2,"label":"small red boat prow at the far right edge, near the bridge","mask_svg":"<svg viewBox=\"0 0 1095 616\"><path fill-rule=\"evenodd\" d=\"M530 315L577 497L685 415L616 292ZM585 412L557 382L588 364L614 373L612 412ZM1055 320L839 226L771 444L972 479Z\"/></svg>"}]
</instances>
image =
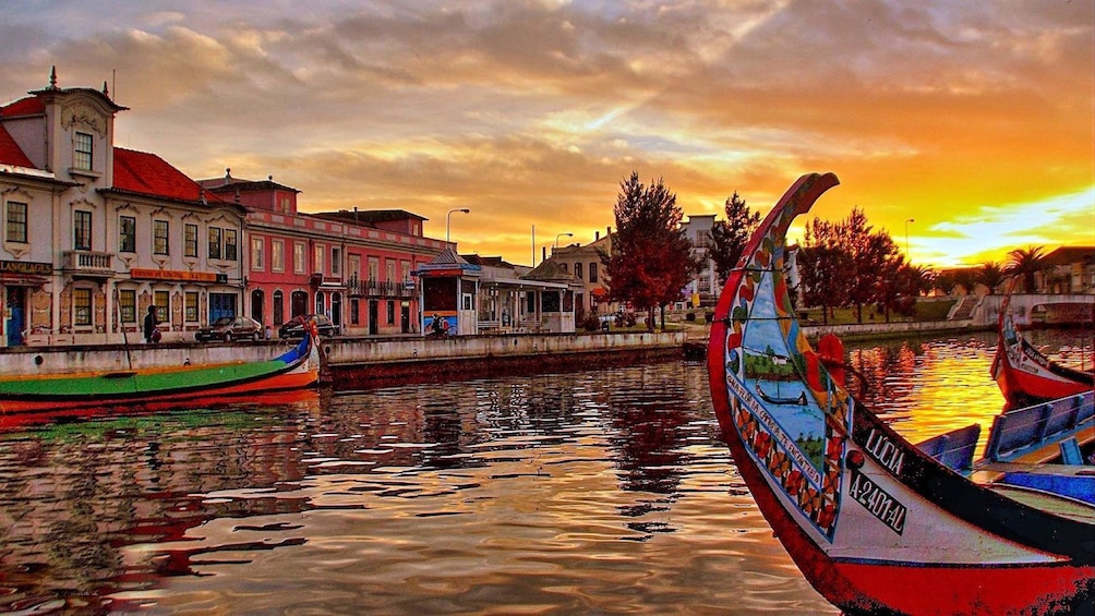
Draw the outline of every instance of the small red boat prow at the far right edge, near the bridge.
<instances>
[{"instance_id":1,"label":"small red boat prow at the far right edge, near the bridge","mask_svg":"<svg viewBox=\"0 0 1095 616\"><path fill-rule=\"evenodd\" d=\"M1095 388L1095 372L1061 365L1023 337L1012 316L1011 293L1000 306L1000 333L992 377L1010 406L1026 406Z\"/></svg>"}]
</instances>

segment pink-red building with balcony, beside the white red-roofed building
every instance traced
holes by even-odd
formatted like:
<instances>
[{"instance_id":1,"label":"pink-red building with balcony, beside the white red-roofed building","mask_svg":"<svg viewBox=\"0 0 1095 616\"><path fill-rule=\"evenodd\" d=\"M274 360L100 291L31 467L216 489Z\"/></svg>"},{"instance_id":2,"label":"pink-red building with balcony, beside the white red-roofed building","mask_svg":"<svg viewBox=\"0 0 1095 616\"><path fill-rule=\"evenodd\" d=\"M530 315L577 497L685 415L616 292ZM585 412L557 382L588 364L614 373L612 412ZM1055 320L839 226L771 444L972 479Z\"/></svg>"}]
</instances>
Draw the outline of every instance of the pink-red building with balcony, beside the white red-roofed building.
<instances>
[{"instance_id":1,"label":"pink-red building with balcony, beside the white red-roofed building","mask_svg":"<svg viewBox=\"0 0 1095 616\"><path fill-rule=\"evenodd\" d=\"M449 245L423 235L426 219L402 210L299 212L299 190L273 177L245 181L229 171L200 184L247 210L245 314L274 330L324 314L349 335L418 332L411 272Z\"/></svg>"}]
</instances>

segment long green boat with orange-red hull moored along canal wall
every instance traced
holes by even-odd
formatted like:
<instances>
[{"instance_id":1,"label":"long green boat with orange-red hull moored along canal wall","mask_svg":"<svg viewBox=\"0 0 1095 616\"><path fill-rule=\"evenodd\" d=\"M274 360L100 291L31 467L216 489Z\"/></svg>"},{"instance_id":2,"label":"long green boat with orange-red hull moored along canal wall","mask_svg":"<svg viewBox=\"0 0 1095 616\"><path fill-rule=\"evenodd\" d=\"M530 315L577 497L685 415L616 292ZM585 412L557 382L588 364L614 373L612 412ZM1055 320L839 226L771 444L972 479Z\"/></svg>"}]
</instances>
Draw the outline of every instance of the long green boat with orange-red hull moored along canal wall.
<instances>
[{"instance_id":1,"label":"long green boat with orange-red hull moored along canal wall","mask_svg":"<svg viewBox=\"0 0 1095 616\"><path fill-rule=\"evenodd\" d=\"M119 405L162 406L196 398L254 395L319 382L314 335L265 361L0 377L0 416Z\"/></svg>"}]
</instances>

